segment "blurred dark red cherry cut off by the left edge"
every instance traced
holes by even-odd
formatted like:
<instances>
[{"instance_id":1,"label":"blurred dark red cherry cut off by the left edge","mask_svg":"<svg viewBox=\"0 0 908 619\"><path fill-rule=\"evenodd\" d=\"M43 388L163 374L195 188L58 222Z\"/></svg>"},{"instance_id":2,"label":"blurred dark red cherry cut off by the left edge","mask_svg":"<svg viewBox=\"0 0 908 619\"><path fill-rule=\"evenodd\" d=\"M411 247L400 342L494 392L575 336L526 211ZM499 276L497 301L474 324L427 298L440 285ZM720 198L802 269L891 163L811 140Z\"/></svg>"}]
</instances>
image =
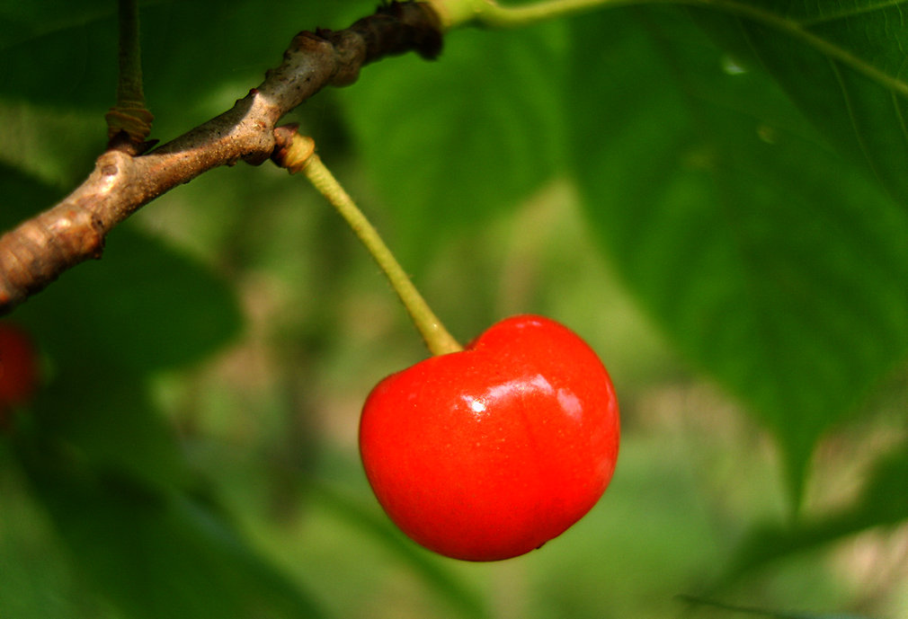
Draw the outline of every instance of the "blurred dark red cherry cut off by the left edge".
<instances>
[{"instance_id":1,"label":"blurred dark red cherry cut off by the left edge","mask_svg":"<svg viewBox=\"0 0 908 619\"><path fill-rule=\"evenodd\" d=\"M15 407L27 403L38 384L35 345L25 330L0 322L0 427Z\"/></svg>"}]
</instances>

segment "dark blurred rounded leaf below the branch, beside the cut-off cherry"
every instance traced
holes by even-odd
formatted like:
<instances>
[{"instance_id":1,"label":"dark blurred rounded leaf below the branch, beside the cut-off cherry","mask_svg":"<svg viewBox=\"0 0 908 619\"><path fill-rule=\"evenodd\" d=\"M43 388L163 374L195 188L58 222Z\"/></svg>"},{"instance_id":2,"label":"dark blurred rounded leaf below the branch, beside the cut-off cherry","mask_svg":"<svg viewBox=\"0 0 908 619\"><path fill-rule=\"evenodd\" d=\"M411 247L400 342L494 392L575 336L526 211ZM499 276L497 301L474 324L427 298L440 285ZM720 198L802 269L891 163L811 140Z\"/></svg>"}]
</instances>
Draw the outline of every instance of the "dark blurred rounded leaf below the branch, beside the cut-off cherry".
<instances>
[{"instance_id":1,"label":"dark blurred rounded leaf below the branch, beside the cut-off cherry","mask_svg":"<svg viewBox=\"0 0 908 619\"><path fill-rule=\"evenodd\" d=\"M65 272L15 317L42 334L59 363L137 371L202 359L242 325L222 278L128 225L108 236L102 260Z\"/></svg>"}]
</instances>

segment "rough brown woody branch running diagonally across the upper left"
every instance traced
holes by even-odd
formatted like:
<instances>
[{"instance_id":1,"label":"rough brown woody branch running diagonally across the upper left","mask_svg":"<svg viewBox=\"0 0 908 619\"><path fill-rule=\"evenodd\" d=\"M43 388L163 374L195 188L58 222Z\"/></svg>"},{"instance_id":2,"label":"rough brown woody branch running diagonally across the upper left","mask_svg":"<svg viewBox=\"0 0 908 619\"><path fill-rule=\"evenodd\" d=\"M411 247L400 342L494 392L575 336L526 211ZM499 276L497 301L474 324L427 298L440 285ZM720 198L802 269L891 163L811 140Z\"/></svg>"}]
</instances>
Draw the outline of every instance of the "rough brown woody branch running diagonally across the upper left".
<instances>
[{"instance_id":1,"label":"rough brown woody branch running diagonally across the upper left","mask_svg":"<svg viewBox=\"0 0 908 619\"><path fill-rule=\"evenodd\" d=\"M440 53L438 15L421 2L382 5L346 30L297 34L262 84L173 142L139 156L113 145L63 201L0 237L0 314L100 258L109 231L173 187L221 165L266 161L276 123L324 86L352 84L363 65L409 51L427 59Z\"/></svg>"}]
</instances>

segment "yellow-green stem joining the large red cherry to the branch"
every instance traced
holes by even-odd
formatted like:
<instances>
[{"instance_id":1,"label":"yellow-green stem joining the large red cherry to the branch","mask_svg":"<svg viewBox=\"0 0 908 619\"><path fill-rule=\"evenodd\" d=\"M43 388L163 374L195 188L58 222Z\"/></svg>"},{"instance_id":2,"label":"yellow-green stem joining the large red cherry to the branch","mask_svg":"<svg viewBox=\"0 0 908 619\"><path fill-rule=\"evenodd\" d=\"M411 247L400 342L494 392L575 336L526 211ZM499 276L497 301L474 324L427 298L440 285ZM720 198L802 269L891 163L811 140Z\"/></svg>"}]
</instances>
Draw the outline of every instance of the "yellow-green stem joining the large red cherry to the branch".
<instances>
[{"instance_id":1,"label":"yellow-green stem joining the large red cherry to the branch","mask_svg":"<svg viewBox=\"0 0 908 619\"><path fill-rule=\"evenodd\" d=\"M344 221L347 221L350 229L366 246L385 277L388 278L391 288L397 292L400 301L410 314L410 319L426 342L429 352L433 355L445 355L449 352L463 350L457 339L451 336L448 329L445 329L432 309L429 308L429 304L419 294L419 290L416 290L416 286L400 267L394 254L381 240L379 232L314 151L315 143L311 138L294 134L283 165L290 172L303 172L312 186L327 198Z\"/></svg>"}]
</instances>

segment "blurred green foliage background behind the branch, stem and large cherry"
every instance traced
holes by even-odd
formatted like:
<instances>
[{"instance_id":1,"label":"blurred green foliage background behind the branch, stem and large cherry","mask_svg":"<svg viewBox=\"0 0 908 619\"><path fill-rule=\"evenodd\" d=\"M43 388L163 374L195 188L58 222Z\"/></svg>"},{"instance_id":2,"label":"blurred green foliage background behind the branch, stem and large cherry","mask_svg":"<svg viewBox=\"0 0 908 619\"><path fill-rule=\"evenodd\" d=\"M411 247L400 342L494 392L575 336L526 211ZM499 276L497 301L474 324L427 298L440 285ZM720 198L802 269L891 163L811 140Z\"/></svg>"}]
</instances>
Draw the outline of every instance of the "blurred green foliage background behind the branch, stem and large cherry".
<instances>
[{"instance_id":1,"label":"blurred green foliage background behind the branch, stem and large cherry","mask_svg":"<svg viewBox=\"0 0 908 619\"><path fill-rule=\"evenodd\" d=\"M301 179L237 166L11 317L46 380L0 437L0 617L905 616L908 29L783 5L453 32L292 114L461 339L536 311L606 361L621 460L567 534L471 565L390 526L356 424L419 338ZM372 9L143 3L152 137ZM8 229L104 147L115 5L2 1L0 60Z\"/></svg>"}]
</instances>

